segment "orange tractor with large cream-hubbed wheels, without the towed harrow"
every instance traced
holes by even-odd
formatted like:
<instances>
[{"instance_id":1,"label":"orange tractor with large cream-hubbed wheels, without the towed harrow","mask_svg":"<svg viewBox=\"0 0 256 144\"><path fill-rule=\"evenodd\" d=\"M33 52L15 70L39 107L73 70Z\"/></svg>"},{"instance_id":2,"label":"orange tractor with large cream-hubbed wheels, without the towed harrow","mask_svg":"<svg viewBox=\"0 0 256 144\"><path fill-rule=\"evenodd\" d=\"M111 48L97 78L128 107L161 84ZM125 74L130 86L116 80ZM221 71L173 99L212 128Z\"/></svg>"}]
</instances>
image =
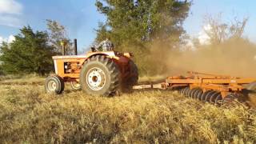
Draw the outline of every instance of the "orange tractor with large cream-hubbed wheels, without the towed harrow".
<instances>
[{"instance_id":1,"label":"orange tractor with large cream-hubbed wheels, without the towed harrow","mask_svg":"<svg viewBox=\"0 0 256 144\"><path fill-rule=\"evenodd\" d=\"M76 40L74 41L77 53ZM62 94L65 82L74 90L82 89L92 95L113 95L117 90L131 90L138 82L138 69L131 60L131 53L115 51L95 52L85 55L54 56L55 74L46 78L48 93Z\"/></svg>"}]
</instances>

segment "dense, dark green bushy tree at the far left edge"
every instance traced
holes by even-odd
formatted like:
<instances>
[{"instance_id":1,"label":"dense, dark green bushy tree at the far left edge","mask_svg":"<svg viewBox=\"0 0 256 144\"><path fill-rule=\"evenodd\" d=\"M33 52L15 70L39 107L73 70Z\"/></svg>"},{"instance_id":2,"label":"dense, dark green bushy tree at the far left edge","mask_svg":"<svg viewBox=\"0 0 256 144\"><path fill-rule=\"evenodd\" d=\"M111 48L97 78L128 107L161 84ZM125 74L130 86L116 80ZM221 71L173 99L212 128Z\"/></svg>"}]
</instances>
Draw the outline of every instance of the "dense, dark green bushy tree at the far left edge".
<instances>
[{"instance_id":1,"label":"dense, dark green bushy tree at the far left edge","mask_svg":"<svg viewBox=\"0 0 256 144\"><path fill-rule=\"evenodd\" d=\"M54 48L48 45L45 31L34 32L30 26L24 26L15 41L0 47L0 61L6 74L45 74L53 68L51 56Z\"/></svg>"}]
</instances>

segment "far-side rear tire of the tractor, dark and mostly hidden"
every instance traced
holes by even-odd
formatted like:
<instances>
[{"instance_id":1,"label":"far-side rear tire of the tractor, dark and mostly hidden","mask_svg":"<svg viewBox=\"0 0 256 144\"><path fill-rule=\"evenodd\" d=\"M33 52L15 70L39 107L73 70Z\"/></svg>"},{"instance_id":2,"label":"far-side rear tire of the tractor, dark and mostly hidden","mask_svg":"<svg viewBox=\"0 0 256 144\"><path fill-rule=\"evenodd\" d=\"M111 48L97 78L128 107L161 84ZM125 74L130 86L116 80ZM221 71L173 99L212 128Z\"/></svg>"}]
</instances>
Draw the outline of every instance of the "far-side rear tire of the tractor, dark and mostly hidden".
<instances>
[{"instance_id":1,"label":"far-side rear tire of the tractor, dark and mostly hidden","mask_svg":"<svg viewBox=\"0 0 256 144\"><path fill-rule=\"evenodd\" d=\"M130 92L133 86L138 84L138 67L132 60L129 61L129 67L130 74L122 79L122 92Z\"/></svg>"}]
</instances>

